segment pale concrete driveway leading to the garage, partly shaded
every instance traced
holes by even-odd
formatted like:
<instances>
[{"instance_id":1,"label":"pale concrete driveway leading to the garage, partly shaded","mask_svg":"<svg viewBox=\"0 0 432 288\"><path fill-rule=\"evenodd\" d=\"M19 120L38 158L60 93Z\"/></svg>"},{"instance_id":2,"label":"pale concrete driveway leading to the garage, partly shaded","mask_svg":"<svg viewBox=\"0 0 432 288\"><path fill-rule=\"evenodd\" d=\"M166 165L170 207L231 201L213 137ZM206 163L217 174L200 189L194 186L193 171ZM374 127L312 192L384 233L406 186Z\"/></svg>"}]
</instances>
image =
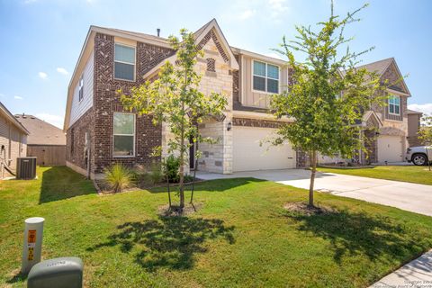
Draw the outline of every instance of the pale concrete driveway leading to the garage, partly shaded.
<instances>
[{"instance_id":1,"label":"pale concrete driveway leading to the garage, partly shaded","mask_svg":"<svg viewBox=\"0 0 432 288\"><path fill-rule=\"evenodd\" d=\"M304 189L309 189L310 175L311 171L304 169L237 172L232 175L197 172L197 177L204 180L254 177ZM432 216L432 185L317 173L315 190Z\"/></svg>"}]
</instances>

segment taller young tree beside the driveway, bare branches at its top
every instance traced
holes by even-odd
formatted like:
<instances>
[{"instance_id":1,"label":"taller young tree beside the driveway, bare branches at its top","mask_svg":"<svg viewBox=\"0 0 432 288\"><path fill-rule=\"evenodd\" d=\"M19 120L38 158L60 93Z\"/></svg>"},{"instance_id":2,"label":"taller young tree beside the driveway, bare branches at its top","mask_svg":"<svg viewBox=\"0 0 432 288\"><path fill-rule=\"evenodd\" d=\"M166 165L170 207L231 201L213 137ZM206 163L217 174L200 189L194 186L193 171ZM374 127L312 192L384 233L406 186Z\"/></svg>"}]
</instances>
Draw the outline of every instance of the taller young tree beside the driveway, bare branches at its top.
<instances>
[{"instance_id":1,"label":"taller young tree beside the driveway, bare branches at its top","mask_svg":"<svg viewBox=\"0 0 432 288\"><path fill-rule=\"evenodd\" d=\"M379 77L365 68L356 68L358 58L372 48L356 53L347 47L339 55L351 40L344 36L346 26L358 22L356 14L366 6L340 18L333 14L332 3L329 20L318 23L320 31L297 26L296 40L287 41L284 37L281 48L275 49L288 58L291 81L286 91L273 97L272 109L276 117L292 117L293 123L284 124L271 142L278 145L289 140L309 154L310 206L317 154L354 157L356 151L364 149L356 121L383 100L383 96L378 96L382 88ZM305 60L294 58L294 51L304 55Z\"/></svg>"}]
</instances>

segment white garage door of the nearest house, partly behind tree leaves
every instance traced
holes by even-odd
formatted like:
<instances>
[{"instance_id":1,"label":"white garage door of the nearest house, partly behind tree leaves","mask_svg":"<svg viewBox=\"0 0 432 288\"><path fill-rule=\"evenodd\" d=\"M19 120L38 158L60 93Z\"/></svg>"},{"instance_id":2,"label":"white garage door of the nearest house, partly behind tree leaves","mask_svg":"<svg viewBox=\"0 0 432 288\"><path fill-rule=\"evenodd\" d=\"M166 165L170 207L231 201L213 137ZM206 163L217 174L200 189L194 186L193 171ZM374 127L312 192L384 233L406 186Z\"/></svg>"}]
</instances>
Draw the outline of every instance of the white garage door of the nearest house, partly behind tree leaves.
<instances>
[{"instance_id":1,"label":"white garage door of the nearest house, partly behind tree leaves","mask_svg":"<svg viewBox=\"0 0 432 288\"><path fill-rule=\"evenodd\" d=\"M295 151L290 144L269 146L260 141L275 135L275 129L234 126L233 171L285 169L295 167ZM267 150L268 148L268 150Z\"/></svg>"}]
</instances>

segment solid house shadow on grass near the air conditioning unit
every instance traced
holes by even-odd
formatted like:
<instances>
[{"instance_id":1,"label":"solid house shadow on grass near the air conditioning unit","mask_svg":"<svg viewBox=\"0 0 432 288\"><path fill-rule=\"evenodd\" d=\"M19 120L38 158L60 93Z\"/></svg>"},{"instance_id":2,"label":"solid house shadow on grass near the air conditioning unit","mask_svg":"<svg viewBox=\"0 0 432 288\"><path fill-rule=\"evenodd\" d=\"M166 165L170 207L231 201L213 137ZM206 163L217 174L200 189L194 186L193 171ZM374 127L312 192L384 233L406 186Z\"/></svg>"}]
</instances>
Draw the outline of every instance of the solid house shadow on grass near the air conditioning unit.
<instances>
[{"instance_id":1,"label":"solid house shadow on grass near the air conditioning unit","mask_svg":"<svg viewBox=\"0 0 432 288\"><path fill-rule=\"evenodd\" d=\"M67 166L51 166L42 173L39 203L96 193L93 182Z\"/></svg>"}]
</instances>

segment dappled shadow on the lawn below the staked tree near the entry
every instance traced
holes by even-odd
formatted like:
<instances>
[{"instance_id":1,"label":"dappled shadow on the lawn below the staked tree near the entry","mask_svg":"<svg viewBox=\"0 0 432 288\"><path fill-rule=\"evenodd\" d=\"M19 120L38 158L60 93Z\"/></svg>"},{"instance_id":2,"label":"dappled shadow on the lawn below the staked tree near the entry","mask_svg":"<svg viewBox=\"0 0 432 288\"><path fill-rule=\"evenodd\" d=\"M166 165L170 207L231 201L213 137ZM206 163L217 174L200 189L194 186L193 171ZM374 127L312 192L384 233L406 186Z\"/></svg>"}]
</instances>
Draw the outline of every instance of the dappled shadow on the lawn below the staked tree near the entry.
<instances>
[{"instance_id":1,"label":"dappled shadow on the lawn below the staked tree near the entry","mask_svg":"<svg viewBox=\"0 0 432 288\"><path fill-rule=\"evenodd\" d=\"M159 216L157 220L125 222L117 229L107 241L86 250L119 246L121 252L130 253L136 247L139 252L135 262L148 271L158 267L191 269L194 254L207 252L203 245L206 240L225 238L230 244L235 242L234 227L226 227L218 219Z\"/></svg>"}]
</instances>

